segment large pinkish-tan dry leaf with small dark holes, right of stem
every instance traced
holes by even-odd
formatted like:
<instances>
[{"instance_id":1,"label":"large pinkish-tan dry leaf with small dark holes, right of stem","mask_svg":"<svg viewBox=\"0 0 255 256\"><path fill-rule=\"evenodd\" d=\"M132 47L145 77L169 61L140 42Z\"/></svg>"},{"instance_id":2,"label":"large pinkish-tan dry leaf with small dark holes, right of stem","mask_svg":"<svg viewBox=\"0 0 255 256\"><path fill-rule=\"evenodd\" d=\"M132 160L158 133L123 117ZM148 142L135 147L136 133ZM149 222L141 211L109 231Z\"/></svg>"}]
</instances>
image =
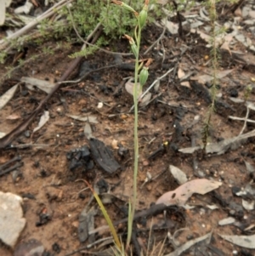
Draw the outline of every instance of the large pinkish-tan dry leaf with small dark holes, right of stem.
<instances>
[{"instance_id":1,"label":"large pinkish-tan dry leaf with small dark holes, right of stem","mask_svg":"<svg viewBox=\"0 0 255 256\"><path fill-rule=\"evenodd\" d=\"M193 179L184 183L184 185L180 185L175 191L169 191L163 194L156 201L156 204L164 203L167 206L184 205L194 193L204 195L210 191L218 189L220 185L222 185L221 182L214 180Z\"/></svg>"}]
</instances>

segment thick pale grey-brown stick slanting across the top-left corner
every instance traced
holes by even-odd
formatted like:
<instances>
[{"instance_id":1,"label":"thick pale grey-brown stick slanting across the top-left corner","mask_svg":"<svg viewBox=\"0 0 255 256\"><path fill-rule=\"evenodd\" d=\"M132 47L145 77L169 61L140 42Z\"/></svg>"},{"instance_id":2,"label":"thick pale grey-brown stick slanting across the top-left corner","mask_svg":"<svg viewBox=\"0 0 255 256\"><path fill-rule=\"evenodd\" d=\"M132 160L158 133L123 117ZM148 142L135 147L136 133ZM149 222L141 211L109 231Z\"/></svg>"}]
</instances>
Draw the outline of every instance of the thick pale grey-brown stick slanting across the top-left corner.
<instances>
[{"instance_id":1,"label":"thick pale grey-brown stick slanting across the top-left corner","mask_svg":"<svg viewBox=\"0 0 255 256\"><path fill-rule=\"evenodd\" d=\"M42 21L44 19L47 19L51 15L55 14L56 11L58 11L61 8L63 8L67 3L71 3L72 1L73 0L62 0L59 3L54 4L53 7L48 9L42 15L38 16L35 20L32 20L26 26L22 27L19 31L16 31L16 32L14 32L14 34L12 34L12 35L4 38L3 40L1 40L0 41L0 50L3 50L3 48L6 48L8 46L9 40L18 38L18 37L22 36L23 34L25 34L26 32L31 31L31 29L34 28L35 26L37 26L37 24L40 21Z\"/></svg>"}]
</instances>

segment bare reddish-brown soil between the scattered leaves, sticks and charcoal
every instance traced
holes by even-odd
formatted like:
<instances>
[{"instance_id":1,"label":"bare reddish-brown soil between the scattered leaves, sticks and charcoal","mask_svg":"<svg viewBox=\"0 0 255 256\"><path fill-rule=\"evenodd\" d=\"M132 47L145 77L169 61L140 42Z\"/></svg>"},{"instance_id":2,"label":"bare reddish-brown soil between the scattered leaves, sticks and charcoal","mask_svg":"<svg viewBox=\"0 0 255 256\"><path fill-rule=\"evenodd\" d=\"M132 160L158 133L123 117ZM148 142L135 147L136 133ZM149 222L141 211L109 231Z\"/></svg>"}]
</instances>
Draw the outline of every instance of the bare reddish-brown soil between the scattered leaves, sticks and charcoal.
<instances>
[{"instance_id":1,"label":"bare reddish-brown soil between the scattered leaves, sticks and charcoal","mask_svg":"<svg viewBox=\"0 0 255 256\"><path fill-rule=\"evenodd\" d=\"M143 41L142 51L148 48L160 34L161 29L156 26L146 28L144 31L146 41ZM248 36L255 43L254 35ZM192 196L189 204L195 205L195 208L184 210L176 207L169 210L166 217L163 213L156 215L153 221L157 226L152 236L156 243L159 243L167 236L167 231L173 235L176 231L183 229L176 233L175 237L178 242L183 243L192 237L203 236L213 230L210 244L193 247L183 255L232 255L234 251L238 255L254 255L254 250L237 247L218 236L218 234L251 235L254 233L253 227L246 230L246 227L254 225L254 210L246 211L242 208L241 198L232 193L233 187L243 188L251 180L253 182L253 178L246 171L244 160L251 164L254 162L254 139L247 139L239 148L226 151L221 156L206 155L201 151L194 154L178 152L178 149L190 147L192 139L195 139L196 145L201 144L201 130L209 103L196 81L189 80L190 88L180 85L176 71L178 66L186 72L201 71L207 63L206 56L210 54L210 48L206 48L207 43L195 34L190 34L185 40L166 36L162 39L162 43L165 50L163 62L157 48L152 49L146 56L154 59L147 84L150 85L156 77L160 77L171 67L175 70L160 82L158 91L151 90L155 100L139 109L140 155L137 209L149 208L150 204L156 202L164 192L173 191L178 187L178 183L169 172L169 165L183 170L189 179L207 178L222 181L223 185L217 191L206 196ZM115 44L118 51L127 52L127 42L120 40ZM29 47L26 58L40 53L42 47L45 45ZM48 43L47 47L54 47L54 43ZM187 50L181 54L183 48ZM52 55L43 55L22 66L1 84L0 95L19 82L20 77L58 80L71 63L68 55L78 49L73 47L57 50ZM241 44L235 50L243 53L241 56L243 60L254 59L254 54L247 52ZM221 100L228 105L218 108L212 117L210 134L212 142L232 138L240 133L243 122L229 120L228 116L245 117L246 107L230 101L229 96L235 91L238 98L243 99L247 82L251 82L250 78L254 77L255 70L254 66L246 65L235 58L235 55L225 51L223 54L221 71L227 69L233 69L233 71L218 81L219 92L222 93ZM133 57L123 57L123 61L127 62L127 60L132 61ZM10 57L8 64L11 61ZM83 67L89 65L90 68L96 69L112 65L115 63L115 57L98 52L82 62ZM1 76L5 74L4 68L5 65L1 65ZM70 80L76 80L79 71L81 67ZM48 255L61 256L88 245L88 241L79 242L77 232L79 216L91 197L91 191L82 191L86 185L81 179L87 179L93 185L100 179L104 179L110 186L112 194L124 198L123 201L119 199L105 204L111 219L125 217L122 209L127 207L127 198L133 193L133 112L129 112L133 99L130 94L127 94L122 78L132 76L133 71L127 71L123 67L106 68L92 73L83 82L67 83L61 86L34 118L27 131L14 139L13 145L18 147L0 151L0 164L14 156L21 156L24 163L18 173L5 174L0 178L1 191L9 191L24 197L26 228L20 235L19 243L37 239L49 253L52 253ZM202 87L206 88L204 85ZM28 90L24 83L20 83L14 98L0 111L1 132L8 134L13 130L31 114L46 95L37 88L34 91ZM254 94L250 94L248 100L253 102ZM102 108L98 108L99 102L104 104ZM33 128L37 127L45 110L49 111L49 121L32 134ZM93 135L110 147L116 161L122 166L121 170L111 175L99 168L97 164L88 171L82 168L72 172L69 170L70 162L67 160L67 153L88 145L88 139L83 132L85 122L73 120L67 117L67 114L97 117L98 123L91 124ZM7 117L10 115L17 115L19 119L9 120ZM254 117L253 113L249 118L252 119L252 116ZM197 122L194 122L195 117L199 117ZM249 124L245 132L253 128L253 125ZM127 155L118 154L114 140L128 149ZM164 150L150 157L166 142ZM24 144L27 146L20 147ZM151 174L152 180L143 185L147 173ZM238 210L237 207L233 209L233 202L239 206ZM218 208L209 209L206 207L208 204L216 204ZM92 205L97 208L96 202L93 201ZM49 220L45 224L38 225L42 213L47 213ZM220 219L231 214L236 219L235 223L241 224L239 227L218 225ZM167 219L167 225L163 225L164 219ZM105 219L98 210L94 227L105 224ZM150 224L151 218L139 219L135 223L139 242L144 247L147 247ZM120 225L118 230L120 233L125 233L127 229L125 225ZM99 240L109 235L108 231L99 232L94 239ZM56 249L56 244L59 245L59 250ZM167 239L164 247L165 254L172 252L173 249L173 244ZM94 246L93 250L100 249ZM8 247L1 246L0 255L9 256L12 255L12 251Z\"/></svg>"}]
</instances>

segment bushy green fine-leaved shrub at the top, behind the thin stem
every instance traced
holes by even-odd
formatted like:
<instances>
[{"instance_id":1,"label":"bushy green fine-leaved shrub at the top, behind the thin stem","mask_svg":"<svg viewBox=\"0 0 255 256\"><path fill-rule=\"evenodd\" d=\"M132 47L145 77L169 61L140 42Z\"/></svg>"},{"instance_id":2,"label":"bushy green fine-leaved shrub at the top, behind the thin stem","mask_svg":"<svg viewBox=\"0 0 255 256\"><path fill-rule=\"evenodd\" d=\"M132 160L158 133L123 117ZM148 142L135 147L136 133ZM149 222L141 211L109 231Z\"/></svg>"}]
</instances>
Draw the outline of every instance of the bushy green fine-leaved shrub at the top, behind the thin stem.
<instances>
[{"instance_id":1,"label":"bushy green fine-leaved shrub at the top, behind the thin stem","mask_svg":"<svg viewBox=\"0 0 255 256\"><path fill-rule=\"evenodd\" d=\"M123 2L129 4L135 10L140 10L144 4L144 0L123 0ZM160 6L156 4L156 0L151 0L150 4L154 4L154 8L149 12L149 23L155 20L156 17L161 16ZM72 26L68 10L65 9L64 12L69 26ZM105 35L109 39L122 37L132 31L137 24L136 18L131 12L111 4L109 0L77 0L72 3L71 14L77 31L83 38L94 31L94 27L99 22L101 22Z\"/></svg>"}]
</instances>

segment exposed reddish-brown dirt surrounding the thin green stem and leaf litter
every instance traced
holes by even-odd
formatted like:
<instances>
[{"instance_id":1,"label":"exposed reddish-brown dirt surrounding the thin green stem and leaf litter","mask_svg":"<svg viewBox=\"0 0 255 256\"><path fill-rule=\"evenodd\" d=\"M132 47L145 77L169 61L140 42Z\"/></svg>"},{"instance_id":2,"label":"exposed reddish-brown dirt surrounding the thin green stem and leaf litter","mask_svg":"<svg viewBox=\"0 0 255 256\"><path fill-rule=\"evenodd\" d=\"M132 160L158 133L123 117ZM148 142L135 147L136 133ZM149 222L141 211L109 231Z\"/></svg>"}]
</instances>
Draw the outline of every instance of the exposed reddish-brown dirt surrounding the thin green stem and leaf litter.
<instances>
[{"instance_id":1,"label":"exposed reddish-brown dirt surrounding the thin green stem and leaf litter","mask_svg":"<svg viewBox=\"0 0 255 256\"><path fill-rule=\"evenodd\" d=\"M154 35L156 38L160 31L157 31L156 28L154 29L156 30ZM153 41L155 38L152 35L150 36L151 41ZM175 54L180 53L180 43L174 43L172 39L167 39L164 43L167 47L167 57L170 58L173 52ZM201 44L205 45L204 42L201 42ZM145 46L147 47L148 45L144 44L144 48ZM190 46L192 45L190 44ZM123 48L122 44L119 48ZM59 74L62 74L71 63L68 55L75 51L77 51L77 48L71 48L68 51L57 51L54 55L43 56L31 61L21 69L14 71L12 77L3 82L0 87L0 94L3 94L8 88L18 82L18 78L22 76L41 79L59 79ZM31 57L37 52L40 52L40 48L30 48L26 58ZM151 54L151 57L153 57L155 52ZM202 66L204 63L203 58L205 57L204 48L201 48L201 50L196 48L195 53L190 50L188 54L191 54L192 59L195 60L195 66ZM188 54L184 54L181 60L183 69L194 66L190 62ZM98 53L89 56L86 61L96 67L100 67L110 65L113 58L111 55ZM170 66L171 62L166 62L166 64ZM239 98L241 98L246 86L246 77L252 77L252 74L248 71L241 71L238 64L234 64L231 68L234 68L235 71L229 75L229 79L220 82L223 99L226 101L228 101L227 98L229 97L229 88L238 88ZM3 71L4 65L1 67L2 75ZM148 84L164 72L164 70L159 68L152 69ZM119 96L112 96L112 92L122 82L122 78L132 75L133 71L122 71L118 68L112 68L89 76L83 83L63 86L44 107L44 110L48 110L50 113L50 119L45 126L37 131L37 133L32 134L30 138L26 138L24 134L21 134L19 138L14 140L14 145L36 144L41 146L32 145L25 149L1 150L0 164L18 155L22 156L22 162L24 162L24 166L20 168L20 178L14 181L12 174L6 174L0 178L1 191L9 191L20 196L30 193L35 196L34 200L27 198L24 200L26 228L21 233L19 242L34 238L41 241L45 248L51 252L52 245L57 242L61 248L61 252L58 255L61 256L86 245L86 243L81 244L78 240L77 226L79 214L87 205L91 192L82 191L86 185L82 181L75 182L77 179L88 179L94 184L96 180L104 178L112 186L116 185L112 193L127 197L132 195L133 113L129 113L128 111L133 105L133 100L125 92L124 88L122 88ZM179 148L191 146L190 134L196 136L196 144L201 143L202 121L205 120L207 115L208 104L203 97L195 94L194 90L187 93L185 88L182 88L178 83L178 79L172 76L170 74L170 77L161 81L159 88L159 92L161 93L160 100L167 103L174 103L178 107L167 106L154 100L139 112L139 204L137 208L148 208L150 203L156 202L156 199L162 193L172 191L178 187L178 184L168 171L169 164L182 169L190 179L195 179L199 170L205 174L207 179L222 180L223 185L217 190L218 194L226 202L235 201L241 204L240 198L232 196L231 187L233 185L244 187L249 181L243 159L253 161L253 158L248 157L247 154L249 153L250 156L254 156L254 140L250 139L239 149L228 151L223 156L197 156L198 169L194 171L192 164L195 156L184 155L173 151L173 146L178 145ZM77 76L74 75L71 79L77 79ZM236 83L239 85L236 86ZM104 94L100 90L100 86L112 88L112 91L109 94ZM37 89L35 91L28 91L26 96L22 96L21 92L24 90L27 90L26 86L20 84L14 98L0 111L1 132L8 133L14 129L22 120L29 116L38 102L46 96L45 93ZM84 91L87 94L82 94ZM88 94L93 97L90 97ZM249 100L255 100L253 94L251 94ZM100 101L108 105L104 105L102 109L98 109L97 105ZM234 103L229 102L229 104L236 107ZM179 107L180 105L187 106L187 108L184 109L184 116L179 120L183 130L178 132L174 127L174 123L178 120L178 115L182 111L182 108ZM244 117L245 108L243 110L237 109L235 116ZM123 170L118 174L105 174L97 166L89 174L71 173L68 170L69 163L66 159L66 153L82 145L88 145L88 140L83 134L85 122L72 120L70 117L66 117L66 114L82 115L83 113L90 113L90 115L96 116L99 121L98 124L92 125L95 138L104 141L105 145L110 146L112 141L116 139L129 149L129 155L122 159L117 155L117 150L111 148L116 156L116 160L123 167ZM7 117L13 114L20 116L20 119L9 121ZM109 117L111 114L116 114L116 116ZM29 126L28 130L30 132L37 126L40 115ZM190 123L193 122L196 115L199 115L201 119L190 128ZM222 112L216 113L212 117L212 141L217 141L218 138L236 136L241 131L241 128L242 122L230 122L226 114ZM248 130L252 130L252 126L249 126ZM161 143L166 141L169 141L169 145L171 145L167 152L156 156L153 160L148 160L147 157L153 151L156 151ZM158 178L141 187L144 183L146 172L149 172L153 178L157 176ZM82 195L85 198L79 196L80 191L82 191ZM126 200L126 202L128 201ZM206 204L212 202L218 205L218 209L212 211L204 207ZM95 202L93 204L96 205ZM238 230L233 225L218 226L218 220L228 216L228 208L224 208L218 201L215 201L211 194L207 196L193 196L190 199L190 204L198 206L189 211L178 209L180 212L179 216L184 214L184 219L180 217L178 219L176 213L170 214L169 217L174 221L172 232L180 228L185 228L177 236L179 242L186 242L186 237L190 234L198 237L213 230L213 239L211 242L213 247L217 247L225 255L231 255L233 250L241 252L240 247L225 242L218 236L218 234L241 234L241 230ZM116 205L106 205L105 207L109 210L112 219L123 218L118 213ZM39 220L38 214L42 209L47 209L52 219L46 225L37 227L36 223ZM250 218L251 214L244 210L244 216ZM162 220L162 214L154 218L155 222ZM245 218L242 217L240 221L245 221ZM251 225L253 222L254 220L251 221ZM99 212L96 217L95 226L98 227L100 225L105 225L105 219ZM147 226L150 227L150 220L147 221ZM137 225L137 227L139 228L140 225ZM144 243L147 242L148 234L148 232L141 234L141 237L144 238ZM99 239L106 235L109 234L100 234L96 238ZM159 242L165 236L167 236L166 230L156 232L156 241ZM166 244L168 247L166 246L165 250L166 253L169 253L172 247L169 246L169 242L166 242ZM96 249L96 247L94 248ZM7 247L0 247L0 255L9 256L12 253ZM190 254L187 253L186 255Z\"/></svg>"}]
</instances>

